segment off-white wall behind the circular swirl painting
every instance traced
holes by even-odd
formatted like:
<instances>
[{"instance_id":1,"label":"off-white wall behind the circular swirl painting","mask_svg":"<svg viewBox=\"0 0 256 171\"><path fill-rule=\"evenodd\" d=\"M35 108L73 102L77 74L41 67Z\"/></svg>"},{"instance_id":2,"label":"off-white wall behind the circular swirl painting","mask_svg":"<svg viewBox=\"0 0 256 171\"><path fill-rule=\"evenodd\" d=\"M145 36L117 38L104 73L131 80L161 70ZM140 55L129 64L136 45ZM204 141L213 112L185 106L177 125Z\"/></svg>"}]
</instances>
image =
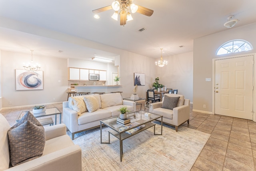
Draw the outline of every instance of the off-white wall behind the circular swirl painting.
<instances>
[{"instance_id":1,"label":"off-white wall behind the circular swirl painting","mask_svg":"<svg viewBox=\"0 0 256 171\"><path fill-rule=\"evenodd\" d=\"M41 65L44 72L43 90L16 91L15 69L23 69L24 62L31 56L22 53L1 51L2 107L44 104L65 101L68 88L67 60L61 58L36 56L34 62ZM60 80L60 83L58 82ZM55 100L54 100L55 98ZM11 104L9 104L11 102Z\"/></svg>"}]
</instances>

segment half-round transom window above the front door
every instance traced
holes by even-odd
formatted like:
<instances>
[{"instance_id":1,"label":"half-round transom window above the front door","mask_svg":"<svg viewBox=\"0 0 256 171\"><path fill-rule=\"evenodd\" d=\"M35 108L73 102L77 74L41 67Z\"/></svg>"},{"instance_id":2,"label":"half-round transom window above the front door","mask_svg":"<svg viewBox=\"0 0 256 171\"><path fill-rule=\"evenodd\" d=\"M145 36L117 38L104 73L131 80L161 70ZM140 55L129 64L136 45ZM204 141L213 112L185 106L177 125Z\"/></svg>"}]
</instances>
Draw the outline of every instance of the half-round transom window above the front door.
<instances>
[{"instance_id":1,"label":"half-round transom window above the front door","mask_svg":"<svg viewBox=\"0 0 256 171\"><path fill-rule=\"evenodd\" d=\"M247 51L252 49L253 49L252 45L245 40L231 40L229 42L222 44L218 48L216 54L217 55L230 54L230 53L242 52L242 51Z\"/></svg>"}]
</instances>

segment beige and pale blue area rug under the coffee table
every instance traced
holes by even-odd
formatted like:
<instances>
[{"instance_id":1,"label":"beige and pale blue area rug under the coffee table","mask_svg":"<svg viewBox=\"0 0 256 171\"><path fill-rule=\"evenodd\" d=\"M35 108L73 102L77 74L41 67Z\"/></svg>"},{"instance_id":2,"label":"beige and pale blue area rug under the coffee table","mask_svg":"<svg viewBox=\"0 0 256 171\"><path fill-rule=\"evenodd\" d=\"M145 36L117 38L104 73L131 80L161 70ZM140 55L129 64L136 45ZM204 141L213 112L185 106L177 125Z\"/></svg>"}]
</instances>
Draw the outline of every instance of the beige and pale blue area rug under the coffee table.
<instances>
[{"instance_id":1,"label":"beige and pale blue area rug under the coffee table","mask_svg":"<svg viewBox=\"0 0 256 171\"><path fill-rule=\"evenodd\" d=\"M103 127L103 141L108 141L108 130ZM189 171L209 137L182 126L176 132L168 125L163 125L163 135L154 135L151 127L123 141L122 162L119 140L110 134L110 144L100 144L100 128L75 134L74 143L82 148L84 171Z\"/></svg>"}]
</instances>

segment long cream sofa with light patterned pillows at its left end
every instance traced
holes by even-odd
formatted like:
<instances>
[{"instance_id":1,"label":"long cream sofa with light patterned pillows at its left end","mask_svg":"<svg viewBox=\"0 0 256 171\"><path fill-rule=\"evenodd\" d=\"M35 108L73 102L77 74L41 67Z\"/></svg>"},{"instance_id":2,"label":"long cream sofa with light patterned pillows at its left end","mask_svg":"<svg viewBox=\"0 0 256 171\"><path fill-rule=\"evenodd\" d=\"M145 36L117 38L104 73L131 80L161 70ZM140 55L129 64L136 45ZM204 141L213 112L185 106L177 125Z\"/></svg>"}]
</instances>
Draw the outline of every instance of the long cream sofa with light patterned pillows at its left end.
<instances>
[{"instance_id":1,"label":"long cream sofa with light patterned pillows at its left end","mask_svg":"<svg viewBox=\"0 0 256 171\"><path fill-rule=\"evenodd\" d=\"M93 112L88 112L84 107L83 98L86 96L96 97L99 109ZM73 104L72 104L73 103ZM134 101L123 100L121 93L108 94L90 94L69 97L68 101L63 102L63 122L72 133L72 140L74 134L88 129L100 126L100 120L115 117L120 114L118 109L126 106L130 112L136 111L136 103Z\"/></svg>"}]
</instances>

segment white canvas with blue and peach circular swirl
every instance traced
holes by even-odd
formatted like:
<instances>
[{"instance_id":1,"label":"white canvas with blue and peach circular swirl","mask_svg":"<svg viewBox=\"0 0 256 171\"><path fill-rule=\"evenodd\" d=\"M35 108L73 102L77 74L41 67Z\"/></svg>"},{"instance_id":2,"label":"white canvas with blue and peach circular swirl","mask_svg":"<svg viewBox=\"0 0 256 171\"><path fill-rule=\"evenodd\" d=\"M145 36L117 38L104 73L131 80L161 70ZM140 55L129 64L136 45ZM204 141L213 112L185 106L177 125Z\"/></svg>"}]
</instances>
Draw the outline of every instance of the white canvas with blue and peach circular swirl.
<instances>
[{"instance_id":1,"label":"white canvas with blue and peach circular swirl","mask_svg":"<svg viewBox=\"0 0 256 171\"><path fill-rule=\"evenodd\" d=\"M43 71L15 70L16 90L44 89Z\"/></svg>"}]
</instances>

